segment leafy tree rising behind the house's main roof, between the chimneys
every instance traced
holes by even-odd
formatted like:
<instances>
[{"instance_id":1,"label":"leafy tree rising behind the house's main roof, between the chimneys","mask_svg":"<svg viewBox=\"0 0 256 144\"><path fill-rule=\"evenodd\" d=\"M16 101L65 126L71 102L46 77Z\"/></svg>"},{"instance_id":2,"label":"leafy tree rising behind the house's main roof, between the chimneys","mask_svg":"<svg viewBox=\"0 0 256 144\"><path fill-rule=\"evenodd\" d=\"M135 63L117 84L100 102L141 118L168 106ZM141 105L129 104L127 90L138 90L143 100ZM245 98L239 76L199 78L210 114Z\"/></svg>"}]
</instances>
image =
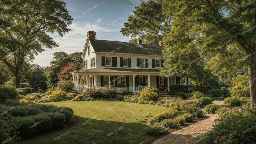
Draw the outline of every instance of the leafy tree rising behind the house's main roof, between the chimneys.
<instances>
[{"instance_id":1,"label":"leafy tree rising behind the house's main roof, between the chimneys","mask_svg":"<svg viewBox=\"0 0 256 144\"><path fill-rule=\"evenodd\" d=\"M139 38L147 44L158 44L172 26L171 17L163 15L161 3L162 0L149 0L136 6L121 33L131 36L132 43L136 43Z\"/></svg>"}]
</instances>

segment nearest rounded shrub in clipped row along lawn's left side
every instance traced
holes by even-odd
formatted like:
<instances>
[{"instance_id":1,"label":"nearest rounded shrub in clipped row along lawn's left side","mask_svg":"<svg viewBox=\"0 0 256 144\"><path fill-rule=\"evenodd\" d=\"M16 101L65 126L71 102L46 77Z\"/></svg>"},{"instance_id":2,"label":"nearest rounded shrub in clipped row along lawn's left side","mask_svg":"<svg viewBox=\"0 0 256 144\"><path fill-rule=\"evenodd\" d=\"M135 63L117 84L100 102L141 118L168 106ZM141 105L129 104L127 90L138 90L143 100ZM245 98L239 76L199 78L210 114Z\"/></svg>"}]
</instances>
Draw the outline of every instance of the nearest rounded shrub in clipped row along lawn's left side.
<instances>
[{"instance_id":1,"label":"nearest rounded shrub in clipped row along lawn's left side","mask_svg":"<svg viewBox=\"0 0 256 144\"><path fill-rule=\"evenodd\" d=\"M35 121L31 117L22 117L20 119L16 119L17 123L17 131L19 132L19 136L21 137L27 137L31 136L36 129Z\"/></svg>"}]
</instances>

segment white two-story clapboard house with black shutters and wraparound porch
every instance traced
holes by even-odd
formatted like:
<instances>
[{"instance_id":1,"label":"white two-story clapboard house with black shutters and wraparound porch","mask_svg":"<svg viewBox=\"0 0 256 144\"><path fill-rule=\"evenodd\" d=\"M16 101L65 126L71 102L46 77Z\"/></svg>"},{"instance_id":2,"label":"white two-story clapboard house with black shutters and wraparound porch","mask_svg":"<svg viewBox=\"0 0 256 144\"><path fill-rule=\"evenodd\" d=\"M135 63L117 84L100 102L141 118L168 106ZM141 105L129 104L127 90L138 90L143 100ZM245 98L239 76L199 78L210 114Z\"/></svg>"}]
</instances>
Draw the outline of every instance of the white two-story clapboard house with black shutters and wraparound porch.
<instances>
[{"instance_id":1,"label":"white two-story clapboard house with black shutters and wraparound porch","mask_svg":"<svg viewBox=\"0 0 256 144\"><path fill-rule=\"evenodd\" d=\"M96 32L87 32L83 70L71 72L77 91L112 88L139 92L148 86L167 91L171 84L189 84L188 77L158 75L165 62L162 42L152 45L138 40L133 44L95 38ZM83 79L83 85L79 84L79 79Z\"/></svg>"}]
</instances>

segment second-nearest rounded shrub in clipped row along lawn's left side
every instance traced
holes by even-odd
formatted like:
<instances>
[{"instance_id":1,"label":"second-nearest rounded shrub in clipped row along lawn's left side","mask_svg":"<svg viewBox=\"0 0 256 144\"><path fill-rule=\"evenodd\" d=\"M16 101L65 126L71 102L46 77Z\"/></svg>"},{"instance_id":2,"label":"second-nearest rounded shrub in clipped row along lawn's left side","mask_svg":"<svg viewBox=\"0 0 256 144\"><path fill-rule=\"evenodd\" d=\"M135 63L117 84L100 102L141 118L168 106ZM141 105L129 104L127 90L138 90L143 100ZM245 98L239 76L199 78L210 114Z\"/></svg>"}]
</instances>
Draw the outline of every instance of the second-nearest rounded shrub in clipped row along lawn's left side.
<instances>
[{"instance_id":1,"label":"second-nearest rounded shrub in clipped row along lawn's left side","mask_svg":"<svg viewBox=\"0 0 256 144\"><path fill-rule=\"evenodd\" d=\"M41 133L49 131L52 127L52 122L50 117L45 115L36 115L31 117L36 123L35 123L35 132ZM34 125L33 125L34 126Z\"/></svg>"}]
</instances>

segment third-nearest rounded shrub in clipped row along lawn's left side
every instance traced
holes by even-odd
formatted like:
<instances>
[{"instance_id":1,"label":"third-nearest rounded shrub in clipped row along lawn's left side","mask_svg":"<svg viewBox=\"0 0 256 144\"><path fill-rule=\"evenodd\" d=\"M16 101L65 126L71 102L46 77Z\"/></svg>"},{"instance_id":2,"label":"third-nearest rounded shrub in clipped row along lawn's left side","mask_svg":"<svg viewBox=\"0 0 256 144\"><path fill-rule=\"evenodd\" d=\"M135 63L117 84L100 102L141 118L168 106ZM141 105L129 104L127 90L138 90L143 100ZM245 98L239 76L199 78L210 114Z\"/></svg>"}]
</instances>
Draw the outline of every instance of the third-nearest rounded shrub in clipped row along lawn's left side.
<instances>
[{"instance_id":1,"label":"third-nearest rounded shrub in clipped row along lawn's left side","mask_svg":"<svg viewBox=\"0 0 256 144\"><path fill-rule=\"evenodd\" d=\"M45 113L42 113L42 115L46 115L50 117L52 122L52 129L56 129L64 125L65 115L62 113L45 112Z\"/></svg>"}]
</instances>

